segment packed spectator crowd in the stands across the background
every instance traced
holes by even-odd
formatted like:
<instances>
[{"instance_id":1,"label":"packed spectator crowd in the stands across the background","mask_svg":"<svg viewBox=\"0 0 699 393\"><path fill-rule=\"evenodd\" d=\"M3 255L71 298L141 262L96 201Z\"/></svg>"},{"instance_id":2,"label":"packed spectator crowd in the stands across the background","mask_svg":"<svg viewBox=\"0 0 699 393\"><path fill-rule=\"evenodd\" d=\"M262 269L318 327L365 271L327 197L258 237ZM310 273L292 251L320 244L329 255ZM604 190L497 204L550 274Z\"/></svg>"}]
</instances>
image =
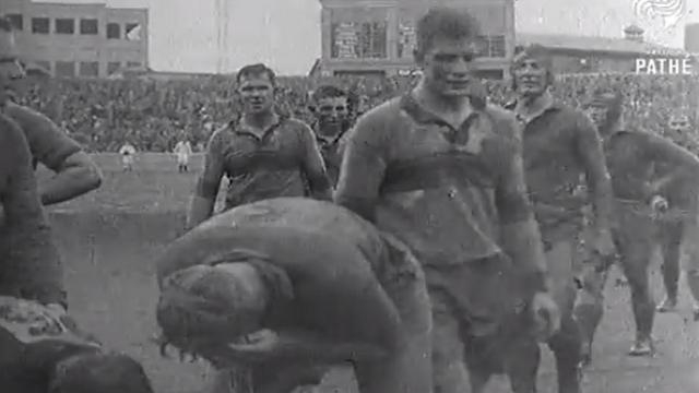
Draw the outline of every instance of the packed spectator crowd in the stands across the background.
<instances>
[{"instance_id":1,"label":"packed spectator crowd in the stands across the background","mask_svg":"<svg viewBox=\"0 0 699 393\"><path fill-rule=\"evenodd\" d=\"M351 92L354 107L360 114L405 92L414 81L415 78L407 76L332 81L280 78L277 109L310 123L309 93L319 83L332 82ZM509 100L508 81L484 83L494 104ZM560 75L554 94L579 107L593 90L608 86L624 93L628 127L666 133L666 124L674 116L686 116L691 124L697 123L699 80L688 75ZM27 91L22 104L48 115L91 152L116 152L127 141L141 152L166 152L185 134L196 150L201 148L213 130L239 114L233 76L52 79L37 81ZM699 152L699 135L668 136Z\"/></svg>"}]
</instances>

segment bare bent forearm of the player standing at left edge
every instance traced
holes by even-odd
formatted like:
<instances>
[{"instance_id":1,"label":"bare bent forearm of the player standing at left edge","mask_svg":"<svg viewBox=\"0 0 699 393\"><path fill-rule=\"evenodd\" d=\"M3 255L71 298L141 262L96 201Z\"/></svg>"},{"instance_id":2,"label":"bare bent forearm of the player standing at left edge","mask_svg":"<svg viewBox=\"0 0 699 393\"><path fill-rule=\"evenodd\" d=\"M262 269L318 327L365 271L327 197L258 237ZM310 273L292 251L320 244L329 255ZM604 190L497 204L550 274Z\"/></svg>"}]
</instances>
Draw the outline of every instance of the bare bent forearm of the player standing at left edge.
<instances>
[{"instance_id":1,"label":"bare bent forearm of the player standing at left edge","mask_svg":"<svg viewBox=\"0 0 699 393\"><path fill-rule=\"evenodd\" d=\"M70 167L39 184L44 205L70 201L95 190L102 184L102 176L93 168Z\"/></svg>"}]
</instances>

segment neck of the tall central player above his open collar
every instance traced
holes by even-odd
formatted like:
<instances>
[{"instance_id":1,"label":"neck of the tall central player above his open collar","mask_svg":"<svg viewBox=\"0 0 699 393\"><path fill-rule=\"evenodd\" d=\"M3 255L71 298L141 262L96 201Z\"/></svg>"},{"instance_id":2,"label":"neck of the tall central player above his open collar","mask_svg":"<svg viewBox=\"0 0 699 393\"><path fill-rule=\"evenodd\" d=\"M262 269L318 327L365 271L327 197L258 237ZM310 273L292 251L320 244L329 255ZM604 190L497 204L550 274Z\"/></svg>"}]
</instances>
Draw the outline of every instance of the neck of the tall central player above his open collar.
<instances>
[{"instance_id":1,"label":"neck of the tall central player above his open collar","mask_svg":"<svg viewBox=\"0 0 699 393\"><path fill-rule=\"evenodd\" d=\"M412 94L423 108L455 127L473 112L469 96L445 96L429 88L424 80L415 86Z\"/></svg>"}]
</instances>

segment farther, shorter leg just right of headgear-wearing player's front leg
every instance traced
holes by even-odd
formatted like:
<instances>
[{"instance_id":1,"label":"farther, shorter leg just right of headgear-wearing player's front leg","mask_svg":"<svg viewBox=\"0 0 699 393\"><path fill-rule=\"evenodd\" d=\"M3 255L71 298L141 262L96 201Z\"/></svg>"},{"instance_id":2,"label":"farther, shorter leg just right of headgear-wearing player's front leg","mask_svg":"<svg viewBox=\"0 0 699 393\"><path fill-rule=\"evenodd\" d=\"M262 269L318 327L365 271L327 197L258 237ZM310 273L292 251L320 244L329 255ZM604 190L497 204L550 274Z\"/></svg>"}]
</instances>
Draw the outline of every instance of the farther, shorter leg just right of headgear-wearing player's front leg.
<instances>
[{"instance_id":1,"label":"farther, shorter leg just right of headgear-wearing player's front leg","mask_svg":"<svg viewBox=\"0 0 699 393\"><path fill-rule=\"evenodd\" d=\"M660 224L659 233L663 264L663 284L665 298L657 306L657 312L671 312L677 308L677 286L679 282L679 260L682 258L683 227L682 222Z\"/></svg>"}]
</instances>

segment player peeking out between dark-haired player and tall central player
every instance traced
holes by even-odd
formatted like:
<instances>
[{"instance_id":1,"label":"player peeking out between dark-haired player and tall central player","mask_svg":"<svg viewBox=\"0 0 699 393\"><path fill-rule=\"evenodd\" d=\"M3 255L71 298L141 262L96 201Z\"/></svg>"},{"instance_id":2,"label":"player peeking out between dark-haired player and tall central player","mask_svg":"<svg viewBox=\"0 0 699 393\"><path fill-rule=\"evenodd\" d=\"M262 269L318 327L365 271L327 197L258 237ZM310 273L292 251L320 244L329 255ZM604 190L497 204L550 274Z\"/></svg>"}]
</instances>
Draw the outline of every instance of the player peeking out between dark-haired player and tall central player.
<instances>
[{"instance_id":1,"label":"player peeking out between dark-haired player and tall central player","mask_svg":"<svg viewBox=\"0 0 699 393\"><path fill-rule=\"evenodd\" d=\"M337 183L342 164L342 138L352 124L350 95L333 85L318 87L311 97L316 115L316 140L332 186Z\"/></svg>"}]
</instances>

